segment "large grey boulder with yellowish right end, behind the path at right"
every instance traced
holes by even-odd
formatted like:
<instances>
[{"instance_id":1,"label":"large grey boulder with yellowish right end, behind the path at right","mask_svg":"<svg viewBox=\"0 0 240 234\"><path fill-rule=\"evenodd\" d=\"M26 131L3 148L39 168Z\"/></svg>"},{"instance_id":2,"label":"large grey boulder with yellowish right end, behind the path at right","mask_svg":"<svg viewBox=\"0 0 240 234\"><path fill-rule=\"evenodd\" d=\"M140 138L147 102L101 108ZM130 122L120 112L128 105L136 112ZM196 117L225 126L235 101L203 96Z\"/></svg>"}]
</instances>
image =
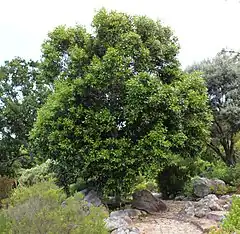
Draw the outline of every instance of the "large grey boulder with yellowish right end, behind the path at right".
<instances>
[{"instance_id":1,"label":"large grey boulder with yellowish right end, behind the path at right","mask_svg":"<svg viewBox=\"0 0 240 234\"><path fill-rule=\"evenodd\" d=\"M224 194L226 190L226 184L222 180L198 177L193 181L193 191L197 197L205 197L211 193Z\"/></svg>"}]
</instances>

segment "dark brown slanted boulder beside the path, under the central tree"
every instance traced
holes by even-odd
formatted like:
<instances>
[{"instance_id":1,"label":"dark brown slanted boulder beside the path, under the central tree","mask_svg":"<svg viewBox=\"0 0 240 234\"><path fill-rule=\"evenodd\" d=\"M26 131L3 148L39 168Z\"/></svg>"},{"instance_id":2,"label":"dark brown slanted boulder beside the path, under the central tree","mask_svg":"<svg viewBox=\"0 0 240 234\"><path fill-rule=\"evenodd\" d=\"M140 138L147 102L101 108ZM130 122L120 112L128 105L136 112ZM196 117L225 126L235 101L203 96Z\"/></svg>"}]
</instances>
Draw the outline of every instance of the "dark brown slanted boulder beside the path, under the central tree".
<instances>
[{"instance_id":1,"label":"dark brown slanted boulder beside the path, under the central tree","mask_svg":"<svg viewBox=\"0 0 240 234\"><path fill-rule=\"evenodd\" d=\"M154 197L148 190L133 193L132 207L150 214L167 210L166 204L159 198Z\"/></svg>"}]
</instances>

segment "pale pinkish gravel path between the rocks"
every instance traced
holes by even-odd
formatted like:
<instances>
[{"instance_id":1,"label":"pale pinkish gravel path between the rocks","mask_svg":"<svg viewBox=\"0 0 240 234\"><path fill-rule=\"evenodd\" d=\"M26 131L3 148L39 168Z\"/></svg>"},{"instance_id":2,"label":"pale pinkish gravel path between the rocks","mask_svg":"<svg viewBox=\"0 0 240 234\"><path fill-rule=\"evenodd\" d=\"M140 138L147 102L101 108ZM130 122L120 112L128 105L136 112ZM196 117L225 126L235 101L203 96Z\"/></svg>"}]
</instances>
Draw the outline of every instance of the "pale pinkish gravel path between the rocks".
<instances>
[{"instance_id":1,"label":"pale pinkish gravel path between the rocks","mask_svg":"<svg viewBox=\"0 0 240 234\"><path fill-rule=\"evenodd\" d=\"M186 202L184 201L164 201L169 210L159 215L147 215L140 220L135 220L134 226L137 227L142 234L202 234L204 233L204 225L206 228L212 226L208 220L197 219L188 220L179 215ZM203 226L196 225L201 224ZM208 223L207 223L208 222ZM203 228L202 228L203 227Z\"/></svg>"}]
</instances>

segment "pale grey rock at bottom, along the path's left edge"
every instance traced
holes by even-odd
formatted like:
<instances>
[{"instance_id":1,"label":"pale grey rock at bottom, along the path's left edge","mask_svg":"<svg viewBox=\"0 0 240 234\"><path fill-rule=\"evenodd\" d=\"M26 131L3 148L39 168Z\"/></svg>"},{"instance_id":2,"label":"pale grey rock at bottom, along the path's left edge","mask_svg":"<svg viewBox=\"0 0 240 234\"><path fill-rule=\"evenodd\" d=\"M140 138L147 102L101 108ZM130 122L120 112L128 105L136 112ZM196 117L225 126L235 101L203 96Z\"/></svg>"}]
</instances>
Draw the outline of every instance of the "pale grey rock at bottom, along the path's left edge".
<instances>
[{"instance_id":1,"label":"pale grey rock at bottom, along the path's left edge","mask_svg":"<svg viewBox=\"0 0 240 234\"><path fill-rule=\"evenodd\" d=\"M113 231L118 228L128 228L132 224L132 220L128 216L124 217L109 217L105 219L106 228L108 231Z\"/></svg>"}]
</instances>

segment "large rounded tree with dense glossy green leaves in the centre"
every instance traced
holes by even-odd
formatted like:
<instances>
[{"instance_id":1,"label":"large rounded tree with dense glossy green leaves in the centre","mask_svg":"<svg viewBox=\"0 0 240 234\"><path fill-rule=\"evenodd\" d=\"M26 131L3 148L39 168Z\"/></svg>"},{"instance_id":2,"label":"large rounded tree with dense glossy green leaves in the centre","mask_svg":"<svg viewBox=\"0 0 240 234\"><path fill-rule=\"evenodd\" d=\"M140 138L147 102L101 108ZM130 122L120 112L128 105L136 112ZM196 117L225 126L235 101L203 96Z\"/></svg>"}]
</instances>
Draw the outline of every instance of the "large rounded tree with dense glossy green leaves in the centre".
<instances>
[{"instance_id":1,"label":"large rounded tree with dense glossy green leaves in the centre","mask_svg":"<svg viewBox=\"0 0 240 234\"><path fill-rule=\"evenodd\" d=\"M203 80L183 74L168 27L147 17L100 10L93 34L56 28L43 44L42 72L55 92L31 134L54 159L63 185L77 177L115 194L139 172L182 165L208 136Z\"/></svg>"}]
</instances>

